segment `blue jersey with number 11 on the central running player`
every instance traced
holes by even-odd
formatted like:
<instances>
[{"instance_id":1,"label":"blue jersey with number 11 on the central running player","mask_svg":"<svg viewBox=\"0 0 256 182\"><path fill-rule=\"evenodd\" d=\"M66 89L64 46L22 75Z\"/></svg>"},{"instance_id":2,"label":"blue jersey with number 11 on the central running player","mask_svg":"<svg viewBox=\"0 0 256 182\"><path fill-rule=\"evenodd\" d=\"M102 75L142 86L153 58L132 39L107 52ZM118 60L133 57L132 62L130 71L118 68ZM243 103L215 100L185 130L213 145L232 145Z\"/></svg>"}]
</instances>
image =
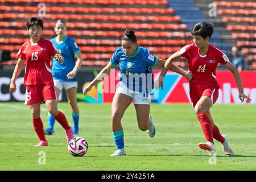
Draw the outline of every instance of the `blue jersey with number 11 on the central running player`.
<instances>
[{"instance_id":1,"label":"blue jersey with number 11 on the central running player","mask_svg":"<svg viewBox=\"0 0 256 182\"><path fill-rule=\"evenodd\" d=\"M127 56L122 47L115 49L110 64L119 64L120 81L129 90L150 93L154 86L152 67L158 63L158 57L151 55L147 48L138 46L133 56Z\"/></svg>"}]
</instances>

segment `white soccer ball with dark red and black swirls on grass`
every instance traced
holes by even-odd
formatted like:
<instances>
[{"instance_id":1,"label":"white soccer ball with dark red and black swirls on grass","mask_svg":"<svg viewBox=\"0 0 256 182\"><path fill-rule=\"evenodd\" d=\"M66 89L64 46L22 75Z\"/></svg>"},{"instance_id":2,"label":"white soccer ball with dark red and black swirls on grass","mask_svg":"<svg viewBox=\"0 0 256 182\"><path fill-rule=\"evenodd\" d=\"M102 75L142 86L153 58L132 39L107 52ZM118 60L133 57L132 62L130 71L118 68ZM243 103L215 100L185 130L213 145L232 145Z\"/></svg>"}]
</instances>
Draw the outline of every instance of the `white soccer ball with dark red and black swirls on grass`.
<instances>
[{"instance_id":1,"label":"white soccer ball with dark red and black swirls on grass","mask_svg":"<svg viewBox=\"0 0 256 182\"><path fill-rule=\"evenodd\" d=\"M68 142L68 152L73 156L83 156L88 150L88 143L82 137L74 137Z\"/></svg>"}]
</instances>

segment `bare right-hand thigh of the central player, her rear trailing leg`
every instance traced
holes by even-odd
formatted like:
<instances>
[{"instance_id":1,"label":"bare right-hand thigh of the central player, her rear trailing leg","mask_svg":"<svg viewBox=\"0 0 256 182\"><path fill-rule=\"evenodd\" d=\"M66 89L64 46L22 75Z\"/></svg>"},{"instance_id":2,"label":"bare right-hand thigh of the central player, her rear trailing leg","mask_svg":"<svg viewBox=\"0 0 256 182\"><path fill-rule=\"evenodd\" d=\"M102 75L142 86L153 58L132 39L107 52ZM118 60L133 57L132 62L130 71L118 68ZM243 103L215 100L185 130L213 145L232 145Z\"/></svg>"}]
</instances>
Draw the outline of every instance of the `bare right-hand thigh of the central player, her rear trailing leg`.
<instances>
[{"instance_id":1,"label":"bare right-hand thigh of the central player, her rear trailing leg","mask_svg":"<svg viewBox=\"0 0 256 182\"><path fill-rule=\"evenodd\" d=\"M148 118L150 115L150 105L148 104L134 104L138 126L147 129Z\"/></svg>"}]
</instances>

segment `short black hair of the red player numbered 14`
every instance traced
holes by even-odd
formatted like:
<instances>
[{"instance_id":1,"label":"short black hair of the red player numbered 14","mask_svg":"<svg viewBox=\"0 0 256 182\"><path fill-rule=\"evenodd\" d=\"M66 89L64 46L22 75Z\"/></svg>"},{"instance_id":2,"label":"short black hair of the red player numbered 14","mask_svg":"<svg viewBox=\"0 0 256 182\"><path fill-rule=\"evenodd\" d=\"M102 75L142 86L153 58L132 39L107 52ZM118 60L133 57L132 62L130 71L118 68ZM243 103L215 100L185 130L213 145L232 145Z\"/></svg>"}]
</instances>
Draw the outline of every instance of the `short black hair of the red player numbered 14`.
<instances>
[{"instance_id":1,"label":"short black hair of the red player numbered 14","mask_svg":"<svg viewBox=\"0 0 256 182\"><path fill-rule=\"evenodd\" d=\"M213 26L210 23L207 22L199 22L196 23L195 26L191 30L192 35L200 35L204 39L209 36L212 36L213 34Z\"/></svg>"}]
</instances>

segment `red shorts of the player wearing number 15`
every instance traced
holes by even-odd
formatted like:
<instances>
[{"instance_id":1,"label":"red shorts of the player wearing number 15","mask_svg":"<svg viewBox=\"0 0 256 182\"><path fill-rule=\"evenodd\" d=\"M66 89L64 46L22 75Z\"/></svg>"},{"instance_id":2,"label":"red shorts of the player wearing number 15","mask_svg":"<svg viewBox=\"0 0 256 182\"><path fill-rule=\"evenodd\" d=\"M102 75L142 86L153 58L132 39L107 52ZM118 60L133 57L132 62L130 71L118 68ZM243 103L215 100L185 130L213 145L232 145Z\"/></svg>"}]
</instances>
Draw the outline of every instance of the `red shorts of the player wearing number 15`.
<instances>
[{"instance_id":1,"label":"red shorts of the player wearing number 15","mask_svg":"<svg viewBox=\"0 0 256 182\"><path fill-rule=\"evenodd\" d=\"M46 100L56 100L54 84L40 84L26 86L25 104L44 103Z\"/></svg>"}]
</instances>

